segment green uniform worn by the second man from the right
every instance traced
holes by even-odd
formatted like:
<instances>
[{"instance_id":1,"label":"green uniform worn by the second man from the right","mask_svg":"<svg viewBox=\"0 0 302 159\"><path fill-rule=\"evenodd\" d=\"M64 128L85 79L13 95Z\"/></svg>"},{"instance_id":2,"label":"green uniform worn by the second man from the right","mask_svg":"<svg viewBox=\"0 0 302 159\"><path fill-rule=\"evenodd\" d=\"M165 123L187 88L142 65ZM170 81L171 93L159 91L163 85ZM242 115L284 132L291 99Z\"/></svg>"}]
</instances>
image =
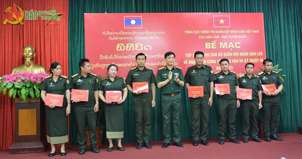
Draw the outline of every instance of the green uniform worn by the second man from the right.
<instances>
[{"instance_id":1,"label":"green uniform worn by the second man from the right","mask_svg":"<svg viewBox=\"0 0 302 159\"><path fill-rule=\"evenodd\" d=\"M259 76L252 75L249 78L246 74L238 79L239 87L245 89L252 89L252 100L241 100L241 111L243 117L243 138L249 138L249 129L251 128L251 135L253 138L258 138L258 124L257 118L259 114L259 96L258 91L262 90ZM251 121L250 121L251 120Z\"/></svg>"}]
</instances>

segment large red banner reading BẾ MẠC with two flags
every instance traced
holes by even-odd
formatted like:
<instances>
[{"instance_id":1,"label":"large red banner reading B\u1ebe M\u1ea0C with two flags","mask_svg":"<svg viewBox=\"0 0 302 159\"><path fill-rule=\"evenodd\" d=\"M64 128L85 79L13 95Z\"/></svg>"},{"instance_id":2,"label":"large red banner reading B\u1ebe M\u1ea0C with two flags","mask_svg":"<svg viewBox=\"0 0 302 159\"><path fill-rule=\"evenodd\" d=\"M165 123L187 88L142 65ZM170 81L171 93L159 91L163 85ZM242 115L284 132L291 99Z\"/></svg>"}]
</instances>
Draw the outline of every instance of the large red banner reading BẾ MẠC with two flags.
<instances>
[{"instance_id":1,"label":"large red banner reading B\u1ebe M\u1ea0C with two flags","mask_svg":"<svg viewBox=\"0 0 302 159\"><path fill-rule=\"evenodd\" d=\"M256 72L266 58L263 13L86 13L84 18L85 55L92 72L102 76L114 63L118 76L126 77L140 52L155 75L168 51L184 74L195 64L196 51L204 52L204 64L214 72L221 70L220 59L229 59L237 76L249 62Z\"/></svg>"}]
</instances>

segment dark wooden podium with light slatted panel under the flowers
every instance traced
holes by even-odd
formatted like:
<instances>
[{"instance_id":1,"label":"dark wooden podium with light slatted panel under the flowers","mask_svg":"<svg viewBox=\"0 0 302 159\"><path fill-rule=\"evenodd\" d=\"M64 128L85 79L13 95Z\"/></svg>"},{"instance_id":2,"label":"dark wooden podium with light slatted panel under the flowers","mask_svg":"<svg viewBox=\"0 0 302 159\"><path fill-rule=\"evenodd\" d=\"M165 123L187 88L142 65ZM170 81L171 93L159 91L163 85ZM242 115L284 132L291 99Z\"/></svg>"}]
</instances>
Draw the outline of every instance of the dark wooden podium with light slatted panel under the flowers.
<instances>
[{"instance_id":1,"label":"dark wooden podium with light slatted panel under the flowers","mask_svg":"<svg viewBox=\"0 0 302 159\"><path fill-rule=\"evenodd\" d=\"M48 148L45 133L45 104L41 99L15 99L15 143L9 154L44 152Z\"/></svg>"}]
</instances>

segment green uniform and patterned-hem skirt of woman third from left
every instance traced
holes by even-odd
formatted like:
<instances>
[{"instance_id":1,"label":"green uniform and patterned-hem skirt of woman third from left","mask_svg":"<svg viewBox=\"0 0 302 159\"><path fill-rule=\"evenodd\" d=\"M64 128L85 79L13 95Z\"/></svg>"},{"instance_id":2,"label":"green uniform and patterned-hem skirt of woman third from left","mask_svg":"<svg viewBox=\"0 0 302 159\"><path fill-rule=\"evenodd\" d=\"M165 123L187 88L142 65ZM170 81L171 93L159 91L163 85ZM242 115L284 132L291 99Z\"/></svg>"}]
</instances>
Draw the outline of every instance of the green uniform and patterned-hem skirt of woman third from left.
<instances>
[{"instance_id":1,"label":"green uniform and patterned-hem skirt of woman third from left","mask_svg":"<svg viewBox=\"0 0 302 159\"><path fill-rule=\"evenodd\" d=\"M115 77L113 81L109 77L101 79L100 91L106 98L106 91L122 91L127 88L123 77ZM124 104L112 102L104 103L105 120L106 120L106 135L107 138L123 138L124 137Z\"/></svg>"}]
</instances>

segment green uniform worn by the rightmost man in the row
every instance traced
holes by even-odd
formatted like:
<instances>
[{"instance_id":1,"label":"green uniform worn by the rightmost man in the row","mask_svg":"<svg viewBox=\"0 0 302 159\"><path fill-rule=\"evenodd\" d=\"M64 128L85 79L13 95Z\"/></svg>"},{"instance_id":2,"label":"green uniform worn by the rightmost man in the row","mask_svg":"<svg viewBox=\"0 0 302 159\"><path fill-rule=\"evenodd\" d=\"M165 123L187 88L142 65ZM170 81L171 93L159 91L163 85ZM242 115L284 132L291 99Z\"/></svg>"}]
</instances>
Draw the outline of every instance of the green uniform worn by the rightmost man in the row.
<instances>
[{"instance_id":1,"label":"green uniform worn by the rightmost man in the row","mask_svg":"<svg viewBox=\"0 0 302 159\"><path fill-rule=\"evenodd\" d=\"M276 88L283 84L278 72L271 71L268 74L263 71L258 74L263 85L265 84L275 84ZM277 131L277 118L280 113L280 99L279 96L262 96L262 106L263 106L263 127L265 136L276 135Z\"/></svg>"}]
</instances>

